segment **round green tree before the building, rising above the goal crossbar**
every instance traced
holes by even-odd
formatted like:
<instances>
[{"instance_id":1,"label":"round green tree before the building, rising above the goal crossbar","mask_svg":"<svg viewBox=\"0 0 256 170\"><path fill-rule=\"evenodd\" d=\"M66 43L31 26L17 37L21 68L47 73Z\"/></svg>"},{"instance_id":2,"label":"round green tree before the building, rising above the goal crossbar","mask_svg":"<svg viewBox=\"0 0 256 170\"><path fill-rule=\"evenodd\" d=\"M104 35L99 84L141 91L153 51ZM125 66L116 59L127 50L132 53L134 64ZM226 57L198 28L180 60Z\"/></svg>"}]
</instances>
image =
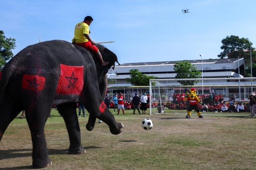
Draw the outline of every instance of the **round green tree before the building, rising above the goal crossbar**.
<instances>
[{"instance_id":1,"label":"round green tree before the building, rising above the goal crossbar","mask_svg":"<svg viewBox=\"0 0 256 170\"><path fill-rule=\"evenodd\" d=\"M200 71L196 71L196 67L192 65L188 61L184 62L176 62L174 64L174 71L177 73L175 76L176 79L199 79L201 76ZM178 81L182 85L190 85L193 86L195 83L199 81Z\"/></svg>"}]
</instances>

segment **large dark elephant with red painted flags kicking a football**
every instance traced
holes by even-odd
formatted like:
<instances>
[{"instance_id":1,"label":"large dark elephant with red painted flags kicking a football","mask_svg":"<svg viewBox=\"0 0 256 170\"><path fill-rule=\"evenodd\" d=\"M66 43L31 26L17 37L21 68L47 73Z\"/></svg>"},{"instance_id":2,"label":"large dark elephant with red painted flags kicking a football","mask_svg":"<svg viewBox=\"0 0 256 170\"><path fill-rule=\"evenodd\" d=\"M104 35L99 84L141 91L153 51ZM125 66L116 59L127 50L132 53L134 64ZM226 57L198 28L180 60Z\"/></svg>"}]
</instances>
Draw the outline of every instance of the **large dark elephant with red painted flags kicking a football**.
<instances>
[{"instance_id":1,"label":"large dark elephant with red painted flags kicking a football","mask_svg":"<svg viewBox=\"0 0 256 170\"><path fill-rule=\"evenodd\" d=\"M69 134L71 154L84 153L76 103L81 102L90 113L87 130L94 128L96 118L109 125L112 134L119 134L123 124L103 102L107 90L106 73L116 54L97 45L104 61L102 67L89 50L62 40L27 46L15 55L0 72L0 140L10 122L25 109L33 152L32 166L43 168L52 164L48 157L44 126L56 105Z\"/></svg>"}]
</instances>

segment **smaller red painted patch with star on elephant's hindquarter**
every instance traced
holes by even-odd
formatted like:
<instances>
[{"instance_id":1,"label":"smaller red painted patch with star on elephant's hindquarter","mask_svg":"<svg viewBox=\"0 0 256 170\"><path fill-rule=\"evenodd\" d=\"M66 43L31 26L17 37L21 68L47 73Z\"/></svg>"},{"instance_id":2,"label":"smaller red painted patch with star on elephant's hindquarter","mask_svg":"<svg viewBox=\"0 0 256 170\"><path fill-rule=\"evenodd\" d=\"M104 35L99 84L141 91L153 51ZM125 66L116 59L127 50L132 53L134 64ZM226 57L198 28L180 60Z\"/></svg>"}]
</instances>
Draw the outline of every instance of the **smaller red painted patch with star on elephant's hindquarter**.
<instances>
[{"instance_id":1,"label":"smaller red painted patch with star on elephant's hindquarter","mask_svg":"<svg viewBox=\"0 0 256 170\"><path fill-rule=\"evenodd\" d=\"M22 88L40 91L44 89L46 78L43 76L24 74L22 78Z\"/></svg>"}]
</instances>

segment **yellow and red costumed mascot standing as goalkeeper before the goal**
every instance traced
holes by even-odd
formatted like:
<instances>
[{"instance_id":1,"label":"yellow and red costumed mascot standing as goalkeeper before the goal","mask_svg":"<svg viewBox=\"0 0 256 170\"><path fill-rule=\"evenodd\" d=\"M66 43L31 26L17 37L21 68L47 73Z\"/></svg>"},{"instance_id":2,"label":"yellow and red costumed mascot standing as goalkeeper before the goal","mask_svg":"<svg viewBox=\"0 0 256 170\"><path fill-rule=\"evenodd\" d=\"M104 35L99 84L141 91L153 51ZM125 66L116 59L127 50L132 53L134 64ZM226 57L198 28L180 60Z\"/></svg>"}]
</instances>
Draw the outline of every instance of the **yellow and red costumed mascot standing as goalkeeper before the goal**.
<instances>
[{"instance_id":1,"label":"yellow and red costumed mascot standing as goalkeeper before the goal","mask_svg":"<svg viewBox=\"0 0 256 170\"><path fill-rule=\"evenodd\" d=\"M189 101L189 107L188 107L188 115L186 116L186 118L190 118L191 115L191 111L193 109L195 109L195 111L197 112L197 116L199 116L199 118L203 118L203 116L200 113L200 110L198 108L197 103L200 102L200 99L197 97L196 94L196 89L192 88L189 90L190 94L187 92L186 95L188 96L187 98L185 98L185 100Z\"/></svg>"}]
</instances>

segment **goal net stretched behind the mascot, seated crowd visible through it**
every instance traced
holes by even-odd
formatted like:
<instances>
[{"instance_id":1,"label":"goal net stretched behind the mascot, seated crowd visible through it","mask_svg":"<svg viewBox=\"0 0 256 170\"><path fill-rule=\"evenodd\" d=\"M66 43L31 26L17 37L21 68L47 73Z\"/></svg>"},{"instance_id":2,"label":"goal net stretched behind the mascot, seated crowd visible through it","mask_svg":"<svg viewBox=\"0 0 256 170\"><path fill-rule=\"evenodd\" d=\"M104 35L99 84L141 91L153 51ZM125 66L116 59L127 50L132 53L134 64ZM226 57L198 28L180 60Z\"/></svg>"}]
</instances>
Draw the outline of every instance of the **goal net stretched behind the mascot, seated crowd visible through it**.
<instances>
[{"instance_id":1,"label":"goal net stretched behind the mascot, seated crowd visible through it","mask_svg":"<svg viewBox=\"0 0 256 170\"><path fill-rule=\"evenodd\" d=\"M189 101L186 93L196 89L201 112L219 111L224 103L229 108L242 103L248 107L248 97L256 91L256 78L206 78L206 79L154 79L149 81L149 113L151 114L186 114ZM205 107L207 106L207 109ZM233 105L232 105L233 106ZM235 112L236 110L230 110ZM237 109L237 108L236 108Z\"/></svg>"}]
</instances>

